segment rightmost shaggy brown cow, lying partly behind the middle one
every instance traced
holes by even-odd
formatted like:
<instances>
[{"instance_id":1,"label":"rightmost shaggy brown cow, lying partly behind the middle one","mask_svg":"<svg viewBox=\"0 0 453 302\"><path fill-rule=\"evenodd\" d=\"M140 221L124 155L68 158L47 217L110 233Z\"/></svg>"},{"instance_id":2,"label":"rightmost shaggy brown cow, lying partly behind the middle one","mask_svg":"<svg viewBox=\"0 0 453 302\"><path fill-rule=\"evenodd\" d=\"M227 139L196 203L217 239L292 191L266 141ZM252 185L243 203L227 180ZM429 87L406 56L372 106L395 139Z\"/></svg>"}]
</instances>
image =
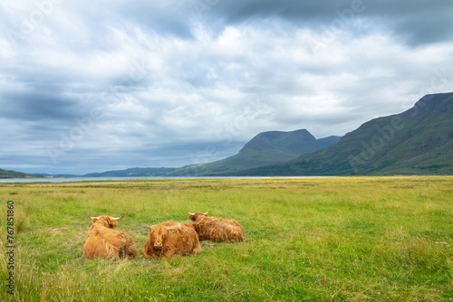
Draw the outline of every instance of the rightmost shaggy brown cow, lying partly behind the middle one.
<instances>
[{"instance_id":1,"label":"rightmost shaggy brown cow, lying partly behind the middle one","mask_svg":"<svg viewBox=\"0 0 453 302\"><path fill-rule=\"evenodd\" d=\"M207 212L188 212L188 218L199 225L198 238L200 241L244 241L244 231L239 222L233 219L208 217Z\"/></svg>"}]
</instances>

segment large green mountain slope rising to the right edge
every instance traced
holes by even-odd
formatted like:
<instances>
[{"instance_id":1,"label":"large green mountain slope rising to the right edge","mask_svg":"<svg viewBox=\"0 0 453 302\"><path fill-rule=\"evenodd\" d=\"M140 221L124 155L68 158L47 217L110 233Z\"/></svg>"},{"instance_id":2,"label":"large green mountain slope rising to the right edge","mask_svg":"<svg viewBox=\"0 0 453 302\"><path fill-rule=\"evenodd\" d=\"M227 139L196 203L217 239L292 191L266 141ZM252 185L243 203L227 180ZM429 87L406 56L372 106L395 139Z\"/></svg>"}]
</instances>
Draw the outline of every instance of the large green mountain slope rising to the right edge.
<instances>
[{"instance_id":1,"label":"large green mountain slope rising to the right edge","mask_svg":"<svg viewBox=\"0 0 453 302\"><path fill-rule=\"evenodd\" d=\"M424 96L333 146L236 175L453 175L453 93Z\"/></svg>"}]
</instances>

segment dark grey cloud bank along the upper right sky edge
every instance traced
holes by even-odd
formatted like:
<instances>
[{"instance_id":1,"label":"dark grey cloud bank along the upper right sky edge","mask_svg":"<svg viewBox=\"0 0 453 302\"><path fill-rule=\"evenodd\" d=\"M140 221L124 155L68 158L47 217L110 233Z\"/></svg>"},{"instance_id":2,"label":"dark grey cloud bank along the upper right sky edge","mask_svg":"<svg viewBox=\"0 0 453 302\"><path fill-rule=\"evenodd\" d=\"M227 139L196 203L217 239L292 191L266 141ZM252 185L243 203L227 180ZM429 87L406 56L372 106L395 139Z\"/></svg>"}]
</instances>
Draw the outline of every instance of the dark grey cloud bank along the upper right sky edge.
<instances>
[{"instance_id":1,"label":"dark grey cloud bank along the upper right sky edge","mask_svg":"<svg viewBox=\"0 0 453 302\"><path fill-rule=\"evenodd\" d=\"M361 33L368 27L385 28L417 46L439 41L451 41L453 34L453 3L448 0L418 1L220 1L208 12L212 18L221 18L227 24L246 23L251 20L280 18L297 27L323 31L334 20L368 20L370 26L354 28Z\"/></svg>"}]
</instances>

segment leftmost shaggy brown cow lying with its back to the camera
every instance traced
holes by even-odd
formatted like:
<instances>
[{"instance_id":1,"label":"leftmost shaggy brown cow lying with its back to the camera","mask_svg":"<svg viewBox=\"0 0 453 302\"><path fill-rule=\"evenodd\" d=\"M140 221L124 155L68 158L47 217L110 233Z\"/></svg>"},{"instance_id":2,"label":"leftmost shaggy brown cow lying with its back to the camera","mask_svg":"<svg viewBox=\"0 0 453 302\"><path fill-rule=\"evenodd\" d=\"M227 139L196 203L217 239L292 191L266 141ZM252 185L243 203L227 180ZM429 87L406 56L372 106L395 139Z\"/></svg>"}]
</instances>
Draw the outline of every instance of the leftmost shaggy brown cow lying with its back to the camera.
<instances>
[{"instance_id":1,"label":"leftmost shaggy brown cow lying with its back to the camera","mask_svg":"<svg viewBox=\"0 0 453 302\"><path fill-rule=\"evenodd\" d=\"M88 231L84 254L88 259L105 258L111 260L134 259L139 256L135 243L125 232L113 230L123 216L92 217L92 227Z\"/></svg>"}]
</instances>

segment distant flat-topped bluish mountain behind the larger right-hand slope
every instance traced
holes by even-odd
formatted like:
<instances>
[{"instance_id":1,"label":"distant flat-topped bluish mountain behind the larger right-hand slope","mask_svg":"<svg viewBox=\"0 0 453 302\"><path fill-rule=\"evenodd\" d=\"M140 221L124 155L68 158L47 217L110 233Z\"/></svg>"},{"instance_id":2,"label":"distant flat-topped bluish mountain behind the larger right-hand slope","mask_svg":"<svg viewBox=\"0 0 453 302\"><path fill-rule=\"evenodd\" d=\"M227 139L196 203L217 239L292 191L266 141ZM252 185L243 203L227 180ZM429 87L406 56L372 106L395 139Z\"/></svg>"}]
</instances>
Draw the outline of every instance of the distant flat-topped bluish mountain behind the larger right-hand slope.
<instances>
[{"instance_id":1,"label":"distant flat-topped bluish mountain behind the larger right-hand slope","mask_svg":"<svg viewBox=\"0 0 453 302\"><path fill-rule=\"evenodd\" d=\"M324 146L331 146L340 138L316 139L306 129L263 132L246 143L236 156L207 164L183 166L171 175L232 175L244 169L292 160Z\"/></svg>"}]
</instances>

